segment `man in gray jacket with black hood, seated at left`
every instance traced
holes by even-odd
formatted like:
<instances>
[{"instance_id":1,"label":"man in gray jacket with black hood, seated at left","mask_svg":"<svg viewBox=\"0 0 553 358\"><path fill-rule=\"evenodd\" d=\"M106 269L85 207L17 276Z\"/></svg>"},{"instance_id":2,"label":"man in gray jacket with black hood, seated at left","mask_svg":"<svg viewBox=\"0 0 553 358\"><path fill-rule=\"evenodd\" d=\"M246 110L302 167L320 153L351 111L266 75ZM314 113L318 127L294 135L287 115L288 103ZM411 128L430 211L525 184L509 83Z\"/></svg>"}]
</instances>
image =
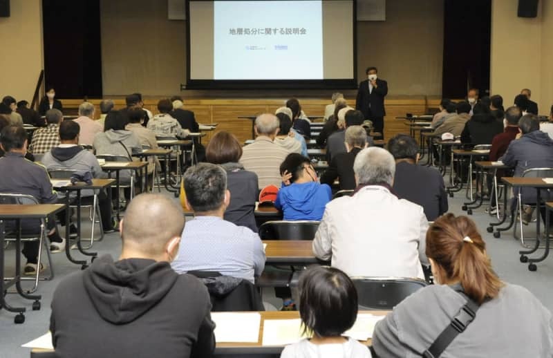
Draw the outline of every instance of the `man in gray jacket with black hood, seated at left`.
<instances>
[{"instance_id":1,"label":"man in gray jacket with black hood, seated at left","mask_svg":"<svg viewBox=\"0 0 553 358\"><path fill-rule=\"evenodd\" d=\"M61 144L44 154L42 164L46 170L53 171L58 169L73 169L77 173L90 171L94 178L106 178L107 175L102 171L100 163L90 151L86 151L79 143L80 126L72 120L64 121L59 125L59 140ZM93 196L92 191L83 191L83 204L88 198ZM113 220L111 219L111 202L103 190L98 192L98 202L100 204L100 215L102 216L102 227L104 233L113 232Z\"/></svg>"}]
</instances>

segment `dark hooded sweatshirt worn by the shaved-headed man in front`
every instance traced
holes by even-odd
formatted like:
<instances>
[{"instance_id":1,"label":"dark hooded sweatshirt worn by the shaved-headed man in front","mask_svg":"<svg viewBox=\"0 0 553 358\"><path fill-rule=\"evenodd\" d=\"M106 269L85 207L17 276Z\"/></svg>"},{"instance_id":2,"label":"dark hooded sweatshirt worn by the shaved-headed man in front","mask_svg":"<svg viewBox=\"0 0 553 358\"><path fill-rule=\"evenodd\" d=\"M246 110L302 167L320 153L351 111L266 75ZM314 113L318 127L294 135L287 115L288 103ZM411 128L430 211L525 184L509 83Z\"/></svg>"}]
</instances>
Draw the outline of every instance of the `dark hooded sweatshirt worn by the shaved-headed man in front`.
<instances>
[{"instance_id":1,"label":"dark hooded sweatshirt worn by the shaved-headed man in front","mask_svg":"<svg viewBox=\"0 0 553 358\"><path fill-rule=\"evenodd\" d=\"M97 258L57 286L50 331L58 357L209 357L209 293L167 262Z\"/></svg>"}]
</instances>

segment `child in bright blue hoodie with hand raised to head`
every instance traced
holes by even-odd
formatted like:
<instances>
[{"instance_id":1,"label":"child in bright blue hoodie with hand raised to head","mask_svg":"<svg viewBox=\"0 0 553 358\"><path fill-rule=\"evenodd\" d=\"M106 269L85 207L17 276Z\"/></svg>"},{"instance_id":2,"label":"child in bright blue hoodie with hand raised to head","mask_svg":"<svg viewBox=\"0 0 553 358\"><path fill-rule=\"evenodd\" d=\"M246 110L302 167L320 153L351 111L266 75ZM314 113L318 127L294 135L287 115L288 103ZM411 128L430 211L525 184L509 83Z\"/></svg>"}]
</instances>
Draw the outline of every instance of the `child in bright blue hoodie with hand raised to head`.
<instances>
[{"instance_id":1,"label":"child in bright blue hoodie with hand raised to head","mask_svg":"<svg viewBox=\"0 0 553 358\"><path fill-rule=\"evenodd\" d=\"M290 153L281 164L284 185L274 207L281 209L284 220L321 220L324 207L332 200L332 191L317 182L317 173L309 158Z\"/></svg>"}]
</instances>

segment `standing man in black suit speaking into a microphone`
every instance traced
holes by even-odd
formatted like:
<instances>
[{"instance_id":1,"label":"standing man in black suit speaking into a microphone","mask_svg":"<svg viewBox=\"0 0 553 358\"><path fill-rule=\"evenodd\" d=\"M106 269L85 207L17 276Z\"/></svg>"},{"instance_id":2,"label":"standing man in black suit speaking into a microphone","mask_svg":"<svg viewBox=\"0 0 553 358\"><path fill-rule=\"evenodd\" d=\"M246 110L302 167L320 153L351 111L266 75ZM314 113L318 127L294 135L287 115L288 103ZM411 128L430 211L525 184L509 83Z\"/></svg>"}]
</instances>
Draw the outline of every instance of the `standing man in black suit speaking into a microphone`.
<instances>
[{"instance_id":1,"label":"standing man in black suit speaking into a microphone","mask_svg":"<svg viewBox=\"0 0 553 358\"><path fill-rule=\"evenodd\" d=\"M377 73L376 67L367 68L367 79L359 84L355 109L362 111L366 120L372 120L374 131L382 133L384 138L384 97L388 94L388 82L379 79Z\"/></svg>"}]
</instances>

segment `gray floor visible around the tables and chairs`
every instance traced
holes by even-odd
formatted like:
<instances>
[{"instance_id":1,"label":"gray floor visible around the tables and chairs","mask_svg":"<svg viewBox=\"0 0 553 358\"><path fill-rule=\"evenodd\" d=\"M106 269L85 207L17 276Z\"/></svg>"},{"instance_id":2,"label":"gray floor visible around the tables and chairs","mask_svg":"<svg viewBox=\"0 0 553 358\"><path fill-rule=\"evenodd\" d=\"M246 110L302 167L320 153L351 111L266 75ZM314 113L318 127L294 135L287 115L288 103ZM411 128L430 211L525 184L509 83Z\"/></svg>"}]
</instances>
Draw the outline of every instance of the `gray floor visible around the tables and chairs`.
<instances>
[{"instance_id":1,"label":"gray floor visible around the tables and chairs","mask_svg":"<svg viewBox=\"0 0 553 358\"><path fill-rule=\"evenodd\" d=\"M462 194L458 193L454 198L450 198L450 211L454 214L462 214L461 205L465 200L464 191ZM548 258L543 263L539 263L537 272L529 272L527 264L518 261L518 250L521 249L521 245L513 238L512 231L503 234L501 238L494 238L491 234L488 234L486 227L490 221L494 221L494 218L485 214L483 207L475 210L471 218L476 221L480 234L485 238L492 264L499 276L509 283L523 285L533 292L547 308L553 310L553 285L550 281L553 277L553 258ZM85 230L88 228L88 226L84 227ZM528 234L532 234L534 225L529 225L525 229L527 229ZM99 254L111 254L112 256L119 254L120 247L118 233L106 235L104 241L94 245L95 251ZM542 250L539 252L541 253ZM13 267L14 256L13 249L6 253L6 267ZM16 325L13 323L14 314L6 312L6 310L0 310L0 358L29 357L30 350L21 348L21 344L43 335L48 330L50 301L57 283L64 279L64 276L80 269L69 263L64 254L55 254L53 259L56 270L55 279L53 281L42 281L39 284L39 293L42 294L41 310L32 311L30 310L31 301L20 299L15 294L8 294L7 300L9 303L18 306L23 305L28 308L28 312L26 313L26 322L22 325ZM263 299L273 305L278 305L278 300L272 295L272 290L264 292Z\"/></svg>"}]
</instances>

